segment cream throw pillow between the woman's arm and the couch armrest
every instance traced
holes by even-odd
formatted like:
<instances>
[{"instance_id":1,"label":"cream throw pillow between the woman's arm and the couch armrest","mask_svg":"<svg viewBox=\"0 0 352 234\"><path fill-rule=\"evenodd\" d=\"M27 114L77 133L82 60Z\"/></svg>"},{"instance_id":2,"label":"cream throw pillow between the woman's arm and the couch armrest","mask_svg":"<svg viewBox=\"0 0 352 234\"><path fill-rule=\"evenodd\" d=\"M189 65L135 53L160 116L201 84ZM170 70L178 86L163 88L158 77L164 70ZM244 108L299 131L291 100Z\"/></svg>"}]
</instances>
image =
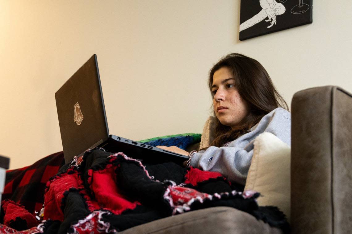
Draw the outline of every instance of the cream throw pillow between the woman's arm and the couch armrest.
<instances>
[{"instance_id":1,"label":"cream throw pillow between the woman's arm and the couch armrest","mask_svg":"<svg viewBox=\"0 0 352 234\"><path fill-rule=\"evenodd\" d=\"M254 140L253 158L245 190L258 191L259 206L276 206L290 222L291 147L270 132Z\"/></svg>"}]
</instances>

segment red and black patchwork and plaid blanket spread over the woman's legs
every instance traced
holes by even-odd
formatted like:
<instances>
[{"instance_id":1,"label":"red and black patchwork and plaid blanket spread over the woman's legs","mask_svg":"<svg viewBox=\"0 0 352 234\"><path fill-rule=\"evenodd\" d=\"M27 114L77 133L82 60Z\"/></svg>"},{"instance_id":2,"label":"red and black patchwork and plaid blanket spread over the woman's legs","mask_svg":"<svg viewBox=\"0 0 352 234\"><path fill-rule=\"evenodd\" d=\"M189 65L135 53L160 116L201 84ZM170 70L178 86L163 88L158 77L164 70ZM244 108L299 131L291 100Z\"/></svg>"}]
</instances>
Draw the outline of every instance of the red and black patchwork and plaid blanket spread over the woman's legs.
<instances>
[{"instance_id":1,"label":"red and black patchwork and plaid blanket spread over the woman's legs","mask_svg":"<svg viewBox=\"0 0 352 234\"><path fill-rule=\"evenodd\" d=\"M234 207L272 226L288 227L279 210L258 207L258 193L239 191L220 173L172 162L150 165L100 149L62 165L62 153L57 153L8 172L13 175L4 197L12 201L2 202L0 233L115 233L214 206ZM43 204L43 213L37 214Z\"/></svg>"}]
</instances>

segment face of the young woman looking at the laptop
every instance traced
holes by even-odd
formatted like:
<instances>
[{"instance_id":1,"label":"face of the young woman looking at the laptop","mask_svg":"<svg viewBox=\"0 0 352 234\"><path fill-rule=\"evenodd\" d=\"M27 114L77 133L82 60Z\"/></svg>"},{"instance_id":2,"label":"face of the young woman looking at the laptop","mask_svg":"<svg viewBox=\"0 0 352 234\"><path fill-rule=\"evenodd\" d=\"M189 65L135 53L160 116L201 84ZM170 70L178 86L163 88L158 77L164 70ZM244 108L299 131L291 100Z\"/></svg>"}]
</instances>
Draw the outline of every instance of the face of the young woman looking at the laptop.
<instances>
[{"instance_id":1,"label":"face of the young woman looking at the laptop","mask_svg":"<svg viewBox=\"0 0 352 234\"><path fill-rule=\"evenodd\" d=\"M215 115L220 123L232 129L238 126L247 115L248 106L238 93L230 69L221 67L214 73L212 92Z\"/></svg>"}]
</instances>

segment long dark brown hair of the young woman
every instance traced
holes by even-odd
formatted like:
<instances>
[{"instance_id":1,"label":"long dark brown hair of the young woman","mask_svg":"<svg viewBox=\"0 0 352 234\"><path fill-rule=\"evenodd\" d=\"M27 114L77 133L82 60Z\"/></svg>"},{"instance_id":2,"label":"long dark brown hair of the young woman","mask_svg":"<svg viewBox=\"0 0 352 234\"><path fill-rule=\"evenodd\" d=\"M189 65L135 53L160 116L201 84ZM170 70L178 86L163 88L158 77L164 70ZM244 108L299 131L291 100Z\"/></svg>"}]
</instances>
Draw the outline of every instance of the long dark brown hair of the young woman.
<instances>
[{"instance_id":1,"label":"long dark brown hair of the young woman","mask_svg":"<svg viewBox=\"0 0 352 234\"><path fill-rule=\"evenodd\" d=\"M214 145L216 147L221 147L249 132L270 111L278 107L288 110L287 103L276 91L268 72L262 64L238 53L228 54L210 70L208 85L213 98L213 76L222 67L227 67L233 74L238 93L247 102L249 113L241 120L236 129L221 124L219 119L216 118L214 140L210 143L210 146ZM216 116L215 112L214 116Z\"/></svg>"}]
</instances>

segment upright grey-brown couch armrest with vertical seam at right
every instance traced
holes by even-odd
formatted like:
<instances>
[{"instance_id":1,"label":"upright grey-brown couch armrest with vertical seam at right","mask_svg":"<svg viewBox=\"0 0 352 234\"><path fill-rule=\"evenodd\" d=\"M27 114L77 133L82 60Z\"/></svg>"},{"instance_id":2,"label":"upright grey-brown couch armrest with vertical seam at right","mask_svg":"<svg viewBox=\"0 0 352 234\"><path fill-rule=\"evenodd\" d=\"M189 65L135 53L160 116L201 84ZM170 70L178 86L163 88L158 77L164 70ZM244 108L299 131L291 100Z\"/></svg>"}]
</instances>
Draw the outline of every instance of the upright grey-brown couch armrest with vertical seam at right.
<instances>
[{"instance_id":1,"label":"upright grey-brown couch armrest with vertical seam at right","mask_svg":"<svg viewBox=\"0 0 352 234\"><path fill-rule=\"evenodd\" d=\"M292 104L292 233L352 230L352 95L336 86L295 93Z\"/></svg>"}]
</instances>

